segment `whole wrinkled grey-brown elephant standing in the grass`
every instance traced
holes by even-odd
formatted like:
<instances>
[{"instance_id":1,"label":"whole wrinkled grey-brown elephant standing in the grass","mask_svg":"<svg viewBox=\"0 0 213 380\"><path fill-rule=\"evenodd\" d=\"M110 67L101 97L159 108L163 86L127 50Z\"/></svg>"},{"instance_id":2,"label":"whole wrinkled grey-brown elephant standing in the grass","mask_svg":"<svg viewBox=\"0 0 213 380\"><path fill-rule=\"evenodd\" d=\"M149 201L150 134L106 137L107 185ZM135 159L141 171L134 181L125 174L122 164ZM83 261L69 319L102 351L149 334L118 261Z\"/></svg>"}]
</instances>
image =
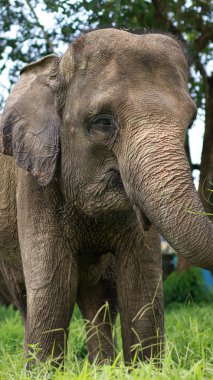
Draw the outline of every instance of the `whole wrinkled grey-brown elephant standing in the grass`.
<instances>
[{"instance_id":1,"label":"whole wrinkled grey-brown elephant standing in the grass","mask_svg":"<svg viewBox=\"0 0 213 380\"><path fill-rule=\"evenodd\" d=\"M99 335L87 327L91 361L114 357L118 310L125 361L159 352L159 233L213 269L213 227L187 211L203 211L184 152L196 113L187 79L179 42L113 29L22 71L1 120L12 157L0 158L0 258L39 359L54 342L63 355L75 302L92 322L106 300Z\"/></svg>"}]
</instances>

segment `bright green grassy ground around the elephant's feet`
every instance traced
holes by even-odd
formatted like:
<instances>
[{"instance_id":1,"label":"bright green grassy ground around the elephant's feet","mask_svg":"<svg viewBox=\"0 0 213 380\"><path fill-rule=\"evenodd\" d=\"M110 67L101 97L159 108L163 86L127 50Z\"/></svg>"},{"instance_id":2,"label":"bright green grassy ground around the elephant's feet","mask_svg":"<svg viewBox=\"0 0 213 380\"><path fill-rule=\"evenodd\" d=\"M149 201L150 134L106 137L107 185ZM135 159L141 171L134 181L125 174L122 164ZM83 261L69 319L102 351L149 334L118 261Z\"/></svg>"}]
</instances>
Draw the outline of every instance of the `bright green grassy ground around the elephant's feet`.
<instances>
[{"instance_id":1,"label":"bright green grassy ground around the elephant's feet","mask_svg":"<svg viewBox=\"0 0 213 380\"><path fill-rule=\"evenodd\" d=\"M0 308L0 380L25 379L213 379L212 306L176 306L166 311L166 354L162 369L140 363L130 369L118 358L113 366L90 366L86 358L83 321L75 311L65 371L51 372L50 364L25 370L23 325L18 312ZM119 330L119 323L118 323ZM72 344L71 344L72 343ZM121 356L121 355L120 355Z\"/></svg>"}]
</instances>

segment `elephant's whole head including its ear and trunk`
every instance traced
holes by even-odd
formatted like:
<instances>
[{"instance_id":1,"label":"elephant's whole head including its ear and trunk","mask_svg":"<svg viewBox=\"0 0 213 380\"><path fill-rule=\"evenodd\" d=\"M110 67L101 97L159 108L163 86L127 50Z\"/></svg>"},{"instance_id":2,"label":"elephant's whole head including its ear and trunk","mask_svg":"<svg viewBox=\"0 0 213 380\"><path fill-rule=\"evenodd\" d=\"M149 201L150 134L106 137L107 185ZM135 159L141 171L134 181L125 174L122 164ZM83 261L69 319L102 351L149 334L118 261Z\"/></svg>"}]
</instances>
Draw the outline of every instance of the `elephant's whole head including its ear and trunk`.
<instances>
[{"instance_id":1,"label":"elephant's whole head including its ear and trunk","mask_svg":"<svg viewBox=\"0 0 213 380\"><path fill-rule=\"evenodd\" d=\"M171 36L90 32L62 58L23 69L2 118L3 153L40 185L58 178L86 214L133 207L177 252L213 268L213 227L184 151L196 113L187 80Z\"/></svg>"}]
</instances>

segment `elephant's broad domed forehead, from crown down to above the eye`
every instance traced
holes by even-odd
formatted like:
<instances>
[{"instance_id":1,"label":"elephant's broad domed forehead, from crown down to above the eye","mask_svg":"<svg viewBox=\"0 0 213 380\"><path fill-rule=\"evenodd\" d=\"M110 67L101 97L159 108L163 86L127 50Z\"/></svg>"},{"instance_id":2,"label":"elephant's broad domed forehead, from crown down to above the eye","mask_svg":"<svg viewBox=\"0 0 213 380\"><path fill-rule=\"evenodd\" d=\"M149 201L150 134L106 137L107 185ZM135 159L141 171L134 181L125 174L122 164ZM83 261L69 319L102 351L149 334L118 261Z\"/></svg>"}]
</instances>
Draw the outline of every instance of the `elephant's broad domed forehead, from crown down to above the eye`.
<instances>
[{"instance_id":1,"label":"elephant's broad domed forehead, from crown down to above the eye","mask_svg":"<svg viewBox=\"0 0 213 380\"><path fill-rule=\"evenodd\" d=\"M153 102L153 98L158 103L163 99L162 104L166 99L169 108L179 106L177 102L182 99L188 104L187 61L182 47L171 37L97 30L79 37L70 51L65 66L73 66L69 95L76 114L82 104L73 98L79 96L85 108L94 112L101 105L104 108L113 102L115 106L125 99L133 99L140 106L144 99Z\"/></svg>"}]
</instances>

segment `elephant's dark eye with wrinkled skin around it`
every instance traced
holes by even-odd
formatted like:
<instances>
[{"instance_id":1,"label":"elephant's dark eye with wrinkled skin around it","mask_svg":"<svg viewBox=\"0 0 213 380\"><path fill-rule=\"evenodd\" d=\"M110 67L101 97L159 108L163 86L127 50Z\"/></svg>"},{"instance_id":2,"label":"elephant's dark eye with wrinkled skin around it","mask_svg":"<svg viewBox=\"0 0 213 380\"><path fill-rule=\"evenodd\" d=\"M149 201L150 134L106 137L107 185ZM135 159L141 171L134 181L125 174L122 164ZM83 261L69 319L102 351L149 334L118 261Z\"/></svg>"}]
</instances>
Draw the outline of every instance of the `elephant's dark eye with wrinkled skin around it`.
<instances>
[{"instance_id":1,"label":"elephant's dark eye with wrinkled skin around it","mask_svg":"<svg viewBox=\"0 0 213 380\"><path fill-rule=\"evenodd\" d=\"M88 122L88 132L97 142L110 141L116 132L115 121L110 115L95 116Z\"/></svg>"}]
</instances>

